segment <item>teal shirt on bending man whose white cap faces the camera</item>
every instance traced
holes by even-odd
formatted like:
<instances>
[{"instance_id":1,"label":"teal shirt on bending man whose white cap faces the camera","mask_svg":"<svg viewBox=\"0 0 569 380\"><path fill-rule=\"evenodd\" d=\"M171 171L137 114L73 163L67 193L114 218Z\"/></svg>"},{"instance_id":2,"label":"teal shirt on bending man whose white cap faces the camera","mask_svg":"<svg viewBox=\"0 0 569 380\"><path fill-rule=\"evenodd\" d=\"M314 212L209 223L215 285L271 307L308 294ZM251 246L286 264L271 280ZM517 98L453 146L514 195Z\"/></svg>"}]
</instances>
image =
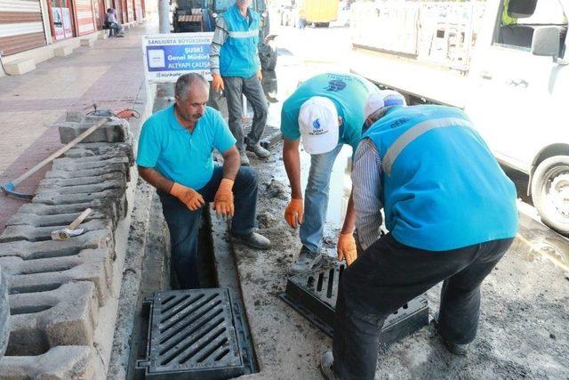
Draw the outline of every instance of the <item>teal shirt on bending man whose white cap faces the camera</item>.
<instances>
[{"instance_id":1,"label":"teal shirt on bending man whose white cap faces the camera","mask_svg":"<svg viewBox=\"0 0 569 380\"><path fill-rule=\"evenodd\" d=\"M355 74L326 73L311 77L283 103L281 111L281 132L285 139L301 138L299 113L301 106L313 96L323 96L336 105L342 118L339 143L357 148L364 125L364 104L370 93L379 89L364 77Z\"/></svg>"}]
</instances>

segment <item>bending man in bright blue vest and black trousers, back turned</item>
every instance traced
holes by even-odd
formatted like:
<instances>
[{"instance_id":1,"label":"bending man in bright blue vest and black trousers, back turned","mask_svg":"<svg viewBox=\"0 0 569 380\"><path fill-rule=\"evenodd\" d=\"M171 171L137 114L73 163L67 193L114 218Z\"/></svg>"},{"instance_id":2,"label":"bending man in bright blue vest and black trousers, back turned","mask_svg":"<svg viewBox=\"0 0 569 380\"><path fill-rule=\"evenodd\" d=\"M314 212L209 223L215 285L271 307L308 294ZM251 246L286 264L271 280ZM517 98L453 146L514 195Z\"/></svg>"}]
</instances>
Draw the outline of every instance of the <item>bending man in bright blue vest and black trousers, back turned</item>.
<instances>
[{"instance_id":1,"label":"bending man in bright blue vest and black trousers, back turned","mask_svg":"<svg viewBox=\"0 0 569 380\"><path fill-rule=\"evenodd\" d=\"M448 351L466 354L480 285L516 236L514 184L469 118L435 105L383 107L358 145L352 182L364 252L343 271L323 374L373 379L384 320L440 281L437 330Z\"/></svg>"}]
</instances>

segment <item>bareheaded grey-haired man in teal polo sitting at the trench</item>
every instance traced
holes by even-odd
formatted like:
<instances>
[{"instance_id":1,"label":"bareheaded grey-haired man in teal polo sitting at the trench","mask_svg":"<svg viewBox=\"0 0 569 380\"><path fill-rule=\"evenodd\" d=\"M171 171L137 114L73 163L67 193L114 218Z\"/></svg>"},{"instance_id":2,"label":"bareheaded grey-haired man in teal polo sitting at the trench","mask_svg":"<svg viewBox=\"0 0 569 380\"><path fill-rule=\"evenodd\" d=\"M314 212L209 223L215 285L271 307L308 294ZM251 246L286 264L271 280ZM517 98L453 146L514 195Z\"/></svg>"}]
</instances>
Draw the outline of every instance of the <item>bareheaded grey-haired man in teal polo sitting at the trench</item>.
<instances>
[{"instance_id":1,"label":"bareheaded grey-haired man in teal polo sitting at the trench","mask_svg":"<svg viewBox=\"0 0 569 380\"><path fill-rule=\"evenodd\" d=\"M213 202L219 216L235 214L231 233L244 244L264 249L270 242L254 231L257 175L240 167L235 138L220 112L205 106L209 83L197 74L180 76L175 98L142 125L136 163L160 197L180 287L193 288L199 287L197 235L205 202ZM213 149L223 166L213 165Z\"/></svg>"}]
</instances>

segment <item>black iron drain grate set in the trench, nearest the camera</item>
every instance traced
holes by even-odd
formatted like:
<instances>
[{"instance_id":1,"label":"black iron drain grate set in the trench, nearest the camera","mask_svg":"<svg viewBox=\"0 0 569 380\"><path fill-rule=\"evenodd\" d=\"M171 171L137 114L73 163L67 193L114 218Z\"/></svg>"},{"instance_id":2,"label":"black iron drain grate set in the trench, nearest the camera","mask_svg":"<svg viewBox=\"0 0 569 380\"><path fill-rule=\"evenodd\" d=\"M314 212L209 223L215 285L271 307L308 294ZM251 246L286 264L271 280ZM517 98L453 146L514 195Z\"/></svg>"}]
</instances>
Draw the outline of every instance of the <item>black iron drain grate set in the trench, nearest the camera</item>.
<instances>
[{"instance_id":1,"label":"black iron drain grate set in the trench, nearest the camera","mask_svg":"<svg viewBox=\"0 0 569 380\"><path fill-rule=\"evenodd\" d=\"M220 379L252 372L248 333L227 288L170 290L149 303L148 378Z\"/></svg>"}]
</instances>

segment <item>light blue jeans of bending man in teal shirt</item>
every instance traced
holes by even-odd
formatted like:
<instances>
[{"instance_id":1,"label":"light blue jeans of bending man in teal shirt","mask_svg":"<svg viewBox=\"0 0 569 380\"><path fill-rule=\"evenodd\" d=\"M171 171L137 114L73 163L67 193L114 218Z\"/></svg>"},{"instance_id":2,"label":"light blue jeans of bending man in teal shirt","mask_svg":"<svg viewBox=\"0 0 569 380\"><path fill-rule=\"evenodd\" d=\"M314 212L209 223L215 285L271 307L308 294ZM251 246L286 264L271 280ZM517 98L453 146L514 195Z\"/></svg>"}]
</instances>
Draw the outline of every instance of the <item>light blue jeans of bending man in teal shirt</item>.
<instances>
[{"instance_id":1,"label":"light blue jeans of bending man in teal shirt","mask_svg":"<svg viewBox=\"0 0 569 380\"><path fill-rule=\"evenodd\" d=\"M310 156L309 182L304 191L304 222L301 224L301 242L311 252L322 247L322 231L328 211L330 174L342 144L328 153Z\"/></svg>"}]
</instances>

